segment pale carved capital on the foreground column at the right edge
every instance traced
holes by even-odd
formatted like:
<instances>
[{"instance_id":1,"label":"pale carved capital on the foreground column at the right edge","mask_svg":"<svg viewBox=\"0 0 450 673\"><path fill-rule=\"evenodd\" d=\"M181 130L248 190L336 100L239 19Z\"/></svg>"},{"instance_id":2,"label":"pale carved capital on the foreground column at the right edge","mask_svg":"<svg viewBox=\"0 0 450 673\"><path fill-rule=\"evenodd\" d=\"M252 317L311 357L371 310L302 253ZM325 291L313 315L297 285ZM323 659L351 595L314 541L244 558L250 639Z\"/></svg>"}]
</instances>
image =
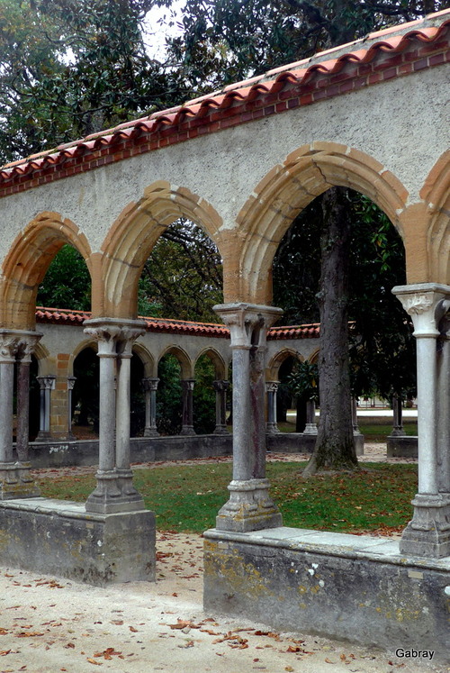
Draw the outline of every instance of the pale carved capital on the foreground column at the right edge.
<instances>
[{"instance_id":1,"label":"pale carved capital on the foreground column at the right edge","mask_svg":"<svg viewBox=\"0 0 450 673\"><path fill-rule=\"evenodd\" d=\"M416 338L440 336L438 326L449 310L450 286L420 283L396 286L392 292L410 314Z\"/></svg>"}]
</instances>

